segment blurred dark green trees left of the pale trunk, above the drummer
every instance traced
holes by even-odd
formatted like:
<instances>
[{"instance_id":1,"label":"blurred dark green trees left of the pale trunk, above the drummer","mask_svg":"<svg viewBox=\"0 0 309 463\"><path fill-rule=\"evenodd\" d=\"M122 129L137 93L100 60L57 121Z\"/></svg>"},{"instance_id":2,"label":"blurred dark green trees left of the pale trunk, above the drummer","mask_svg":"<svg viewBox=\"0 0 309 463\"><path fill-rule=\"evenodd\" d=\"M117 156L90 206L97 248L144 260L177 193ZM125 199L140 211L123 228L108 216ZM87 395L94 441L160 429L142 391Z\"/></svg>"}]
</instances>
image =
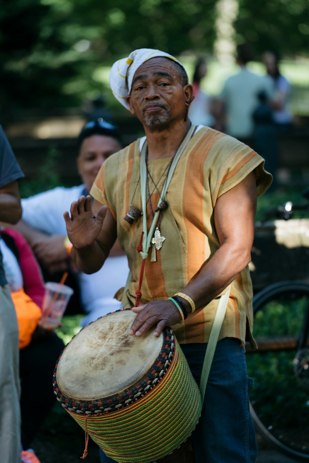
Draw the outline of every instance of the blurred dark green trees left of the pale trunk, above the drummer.
<instances>
[{"instance_id":1,"label":"blurred dark green trees left of the pale trunk, above the drummer","mask_svg":"<svg viewBox=\"0 0 309 463\"><path fill-rule=\"evenodd\" d=\"M6 0L0 10L1 119L79 106L94 69L141 47L208 50L216 0Z\"/></svg>"}]
</instances>

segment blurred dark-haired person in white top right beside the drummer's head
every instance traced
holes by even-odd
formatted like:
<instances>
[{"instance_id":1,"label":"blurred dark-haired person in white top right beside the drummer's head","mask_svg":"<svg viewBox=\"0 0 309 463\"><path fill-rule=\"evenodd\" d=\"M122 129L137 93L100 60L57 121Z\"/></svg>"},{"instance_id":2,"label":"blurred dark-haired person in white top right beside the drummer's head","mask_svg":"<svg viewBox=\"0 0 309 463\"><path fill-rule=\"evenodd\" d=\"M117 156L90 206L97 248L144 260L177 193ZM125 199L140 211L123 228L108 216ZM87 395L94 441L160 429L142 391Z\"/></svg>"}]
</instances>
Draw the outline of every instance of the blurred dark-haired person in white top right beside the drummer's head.
<instances>
[{"instance_id":1,"label":"blurred dark-haired person in white top right beside the drummer's head","mask_svg":"<svg viewBox=\"0 0 309 463\"><path fill-rule=\"evenodd\" d=\"M215 118L211 114L211 98L201 90L201 80L207 74L207 64L204 59L200 59L194 70L192 86L194 100L189 109L189 118L192 124L207 125L212 127L215 123Z\"/></svg>"}]
</instances>

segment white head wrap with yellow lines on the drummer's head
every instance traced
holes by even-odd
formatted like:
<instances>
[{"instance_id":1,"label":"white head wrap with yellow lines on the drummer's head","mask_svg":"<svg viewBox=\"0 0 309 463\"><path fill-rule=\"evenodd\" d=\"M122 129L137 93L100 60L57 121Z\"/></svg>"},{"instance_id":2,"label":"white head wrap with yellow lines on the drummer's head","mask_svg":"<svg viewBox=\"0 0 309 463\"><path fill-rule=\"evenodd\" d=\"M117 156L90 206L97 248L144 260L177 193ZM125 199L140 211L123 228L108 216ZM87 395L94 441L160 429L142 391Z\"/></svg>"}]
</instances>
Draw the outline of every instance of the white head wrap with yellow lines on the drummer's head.
<instances>
[{"instance_id":1,"label":"white head wrap with yellow lines on the drummer's head","mask_svg":"<svg viewBox=\"0 0 309 463\"><path fill-rule=\"evenodd\" d=\"M139 50L132 51L127 58L116 61L116 63L112 65L110 72L111 91L115 98L120 101L125 108L130 110L126 97L131 91L136 69L138 69L141 64L145 63L148 59L158 56L170 58L185 69L184 65L174 58L174 56L171 56L164 51L153 50L152 48L140 48Z\"/></svg>"}]
</instances>

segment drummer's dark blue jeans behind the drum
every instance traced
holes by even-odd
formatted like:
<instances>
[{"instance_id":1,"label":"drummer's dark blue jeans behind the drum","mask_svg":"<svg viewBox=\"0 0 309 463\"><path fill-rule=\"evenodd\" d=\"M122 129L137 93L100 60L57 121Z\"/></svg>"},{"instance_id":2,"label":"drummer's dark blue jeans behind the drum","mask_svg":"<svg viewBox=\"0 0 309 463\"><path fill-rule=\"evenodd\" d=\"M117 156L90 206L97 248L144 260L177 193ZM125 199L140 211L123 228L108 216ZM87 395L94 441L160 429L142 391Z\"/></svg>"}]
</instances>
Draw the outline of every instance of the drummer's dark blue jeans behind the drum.
<instances>
[{"instance_id":1,"label":"drummer's dark blue jeans behind the drum","mask_svg":"<svg viewBox=\"0 0 309 463\"><path fill-rule=\"evenodd\" d=\"M182 344L194 379L200 380L207 344ZM195 463L254 463L258 452L249 412L245 349L238 339L216 345L198 426L192 433ZM101 463L112 463L100 450Z\"/></svg>"}]
</instances>

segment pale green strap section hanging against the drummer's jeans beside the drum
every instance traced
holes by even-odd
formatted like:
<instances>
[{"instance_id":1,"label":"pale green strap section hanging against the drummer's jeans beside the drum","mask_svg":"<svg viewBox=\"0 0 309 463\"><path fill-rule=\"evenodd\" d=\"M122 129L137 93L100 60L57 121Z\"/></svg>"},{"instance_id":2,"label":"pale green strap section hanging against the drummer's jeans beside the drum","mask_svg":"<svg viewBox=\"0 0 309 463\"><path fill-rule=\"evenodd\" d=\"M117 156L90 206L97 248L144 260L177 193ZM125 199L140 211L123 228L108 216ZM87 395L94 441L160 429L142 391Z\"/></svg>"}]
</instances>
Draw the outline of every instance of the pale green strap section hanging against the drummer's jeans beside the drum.
<instances>
[{"instance_id":1,"label":"pale green strap section hanging against the drummer's jeans beside the drum","mask_svg":"<svg viewBox=\"0 0 309 463\"><path fill-rule=\"evenodd\" d=\"M231 289L231 285L229 285L226 292L222 294L222 296L219 299L218 307L216 310L216 315L215 315L215 318L214 318L214 321L211 327L210 335L209 335L209 340L208 340L204 363L203 363L201 382L199 385L199 390L202 396L202 403L204 402L205 389L206 389L206 384L208 380L208 375L210 372L211 362L214 357L214 353L216 350L216 344L218 342L224 315L226 312L226 308L228 306L230 289Z\"/></svg>"}]
</instances>

